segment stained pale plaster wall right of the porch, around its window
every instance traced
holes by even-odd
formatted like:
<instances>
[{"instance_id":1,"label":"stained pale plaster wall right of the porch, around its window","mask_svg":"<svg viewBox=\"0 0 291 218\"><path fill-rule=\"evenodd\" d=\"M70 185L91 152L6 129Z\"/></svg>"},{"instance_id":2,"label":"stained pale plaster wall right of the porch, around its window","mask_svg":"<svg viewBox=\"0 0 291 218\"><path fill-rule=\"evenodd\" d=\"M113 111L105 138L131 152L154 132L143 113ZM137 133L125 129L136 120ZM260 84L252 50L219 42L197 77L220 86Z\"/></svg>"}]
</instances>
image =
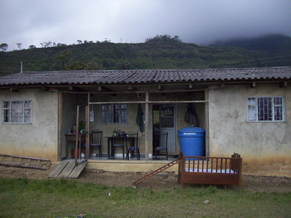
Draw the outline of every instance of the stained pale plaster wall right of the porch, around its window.
<instances>
[{"instance_id":1,"label":"stained pale plaster wall right of the porch, around its window","mask_svg":"<svg viewBox=\"0 0 291 218\"><path fill-rule=\"evenodd\" d=\"M291 162L291 86L226 85L209 91L210 156L239 153L244 164ZM284 122L247 122L247 97L284 97Z\"/></svg>"}]
</instances>

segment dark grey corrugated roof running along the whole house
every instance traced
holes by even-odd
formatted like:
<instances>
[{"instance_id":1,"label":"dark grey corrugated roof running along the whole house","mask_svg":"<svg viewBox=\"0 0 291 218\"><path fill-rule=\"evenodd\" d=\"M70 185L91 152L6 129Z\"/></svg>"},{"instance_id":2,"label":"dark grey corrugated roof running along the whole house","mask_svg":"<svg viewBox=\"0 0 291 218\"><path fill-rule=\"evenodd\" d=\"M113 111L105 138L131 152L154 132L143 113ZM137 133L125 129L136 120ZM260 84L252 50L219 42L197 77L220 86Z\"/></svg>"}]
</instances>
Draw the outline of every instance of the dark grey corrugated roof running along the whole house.
<instances>
[{"instance_id":1,"label":"dark grey corrugated roof running along the whole house","mask_svg":"<svg viewBox=\"0 0 291 218\"><path fill-rule=\"evenodd\" d=\"M131 83L243 81L291 79L291 67L225 68L225 69L139 69L24 71L0 77L7 85L97 85Z\"/></svg>"}]
</instances>

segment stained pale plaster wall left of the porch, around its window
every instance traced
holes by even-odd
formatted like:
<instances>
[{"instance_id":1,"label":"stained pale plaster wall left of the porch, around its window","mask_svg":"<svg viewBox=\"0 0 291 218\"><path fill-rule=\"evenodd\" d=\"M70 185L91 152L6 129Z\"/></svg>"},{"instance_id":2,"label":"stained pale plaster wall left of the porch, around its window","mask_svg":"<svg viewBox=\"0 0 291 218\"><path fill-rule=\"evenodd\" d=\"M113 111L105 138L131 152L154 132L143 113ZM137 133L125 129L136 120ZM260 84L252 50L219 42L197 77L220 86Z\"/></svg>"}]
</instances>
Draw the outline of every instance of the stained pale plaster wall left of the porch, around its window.
<instances>
[{"instance_id":1,"label":"stained pale plaster wall left of the porch, around its window","mask_svg":"<svg viewBox=\"0 0 291 218\"><path fill-rule=\"evenodd\" d=\"M57 161L58 94L38 89L0 91L0 153ZM32 100L31 124L3 124L2 101Z\"/></svg>"}]
</instances>

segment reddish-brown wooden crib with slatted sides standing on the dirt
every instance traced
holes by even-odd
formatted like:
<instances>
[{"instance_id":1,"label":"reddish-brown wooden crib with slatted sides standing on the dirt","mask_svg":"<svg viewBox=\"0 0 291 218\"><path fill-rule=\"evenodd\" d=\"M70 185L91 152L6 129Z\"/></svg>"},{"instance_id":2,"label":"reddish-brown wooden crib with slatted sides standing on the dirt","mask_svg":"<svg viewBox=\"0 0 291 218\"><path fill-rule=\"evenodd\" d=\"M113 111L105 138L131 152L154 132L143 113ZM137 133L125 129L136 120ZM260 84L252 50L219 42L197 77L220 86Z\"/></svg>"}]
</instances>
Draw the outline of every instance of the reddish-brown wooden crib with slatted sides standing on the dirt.
<instances>
[{"instance_id":1,"label":"reddish-brown wooden crib with slatted sides standing on the dirt","mask_svg":"<svg viewBox=\"0 0 291 218\"><path fill-rule=\"evenodd\" d=\"M231 158L221 157L200 157L184 156L179 154L182 159L179 162L178 183L196 183L213 185L238 185L240 190L242 177L242 158L234 153ZM194 161L195 160L195 161ZM201 169L199 172L191 172L189 169ZM228 172L227 172L228 170Z\"/></svg>"}]
</instances>

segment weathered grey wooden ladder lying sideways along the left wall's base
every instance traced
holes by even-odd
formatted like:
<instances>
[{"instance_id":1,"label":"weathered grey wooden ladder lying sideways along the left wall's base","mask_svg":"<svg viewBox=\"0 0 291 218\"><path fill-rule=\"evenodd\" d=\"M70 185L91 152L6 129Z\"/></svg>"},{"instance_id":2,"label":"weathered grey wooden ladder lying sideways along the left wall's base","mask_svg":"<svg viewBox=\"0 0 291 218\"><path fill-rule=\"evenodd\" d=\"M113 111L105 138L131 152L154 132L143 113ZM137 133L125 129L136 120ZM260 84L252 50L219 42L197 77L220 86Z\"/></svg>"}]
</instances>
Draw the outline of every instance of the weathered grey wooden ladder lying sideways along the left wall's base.
<instances>
[{"instance_id":1,"label":"weathered grey wooden ladder lying sideways along the left wall's base","mask_svg":"<svg viewBox=\"0 0 291 218\"><path fill-rule=\"evenodd\" d=\"M0 154L0 157L1 157L1 160L0 160L0 165L3 165L3 166L10 166L10 167L23 167L23 168L31 168L31 169L41 169L41 170L46 170L46 168L44 168L44 167L39 167L38 165L39 165L39 162L40 161L46 161L46 162L49 162L49 160L48 159L40 159L40 158L29 158L29 157L22 157L22 156L14 156L14 155L7 155L7 154ZM3 158L4 157L10 157L10 161L9 161L9 163L8 164L4 164L4 163L2 163L2 160L3 160ZM18 161L18 164L11 164L11 161L12 161L12 159L19 159L19 161ZM28 160L28 162L22 162L21 163L21 161L22 160ZM36 167L33 167L33 166L29 166L29 164L30 164L30 161L31 160L38 160L38 163L37 163L37 165L36 165ZM22 164L22 165L21 165Z\"/></svg>"}]
</instances>

